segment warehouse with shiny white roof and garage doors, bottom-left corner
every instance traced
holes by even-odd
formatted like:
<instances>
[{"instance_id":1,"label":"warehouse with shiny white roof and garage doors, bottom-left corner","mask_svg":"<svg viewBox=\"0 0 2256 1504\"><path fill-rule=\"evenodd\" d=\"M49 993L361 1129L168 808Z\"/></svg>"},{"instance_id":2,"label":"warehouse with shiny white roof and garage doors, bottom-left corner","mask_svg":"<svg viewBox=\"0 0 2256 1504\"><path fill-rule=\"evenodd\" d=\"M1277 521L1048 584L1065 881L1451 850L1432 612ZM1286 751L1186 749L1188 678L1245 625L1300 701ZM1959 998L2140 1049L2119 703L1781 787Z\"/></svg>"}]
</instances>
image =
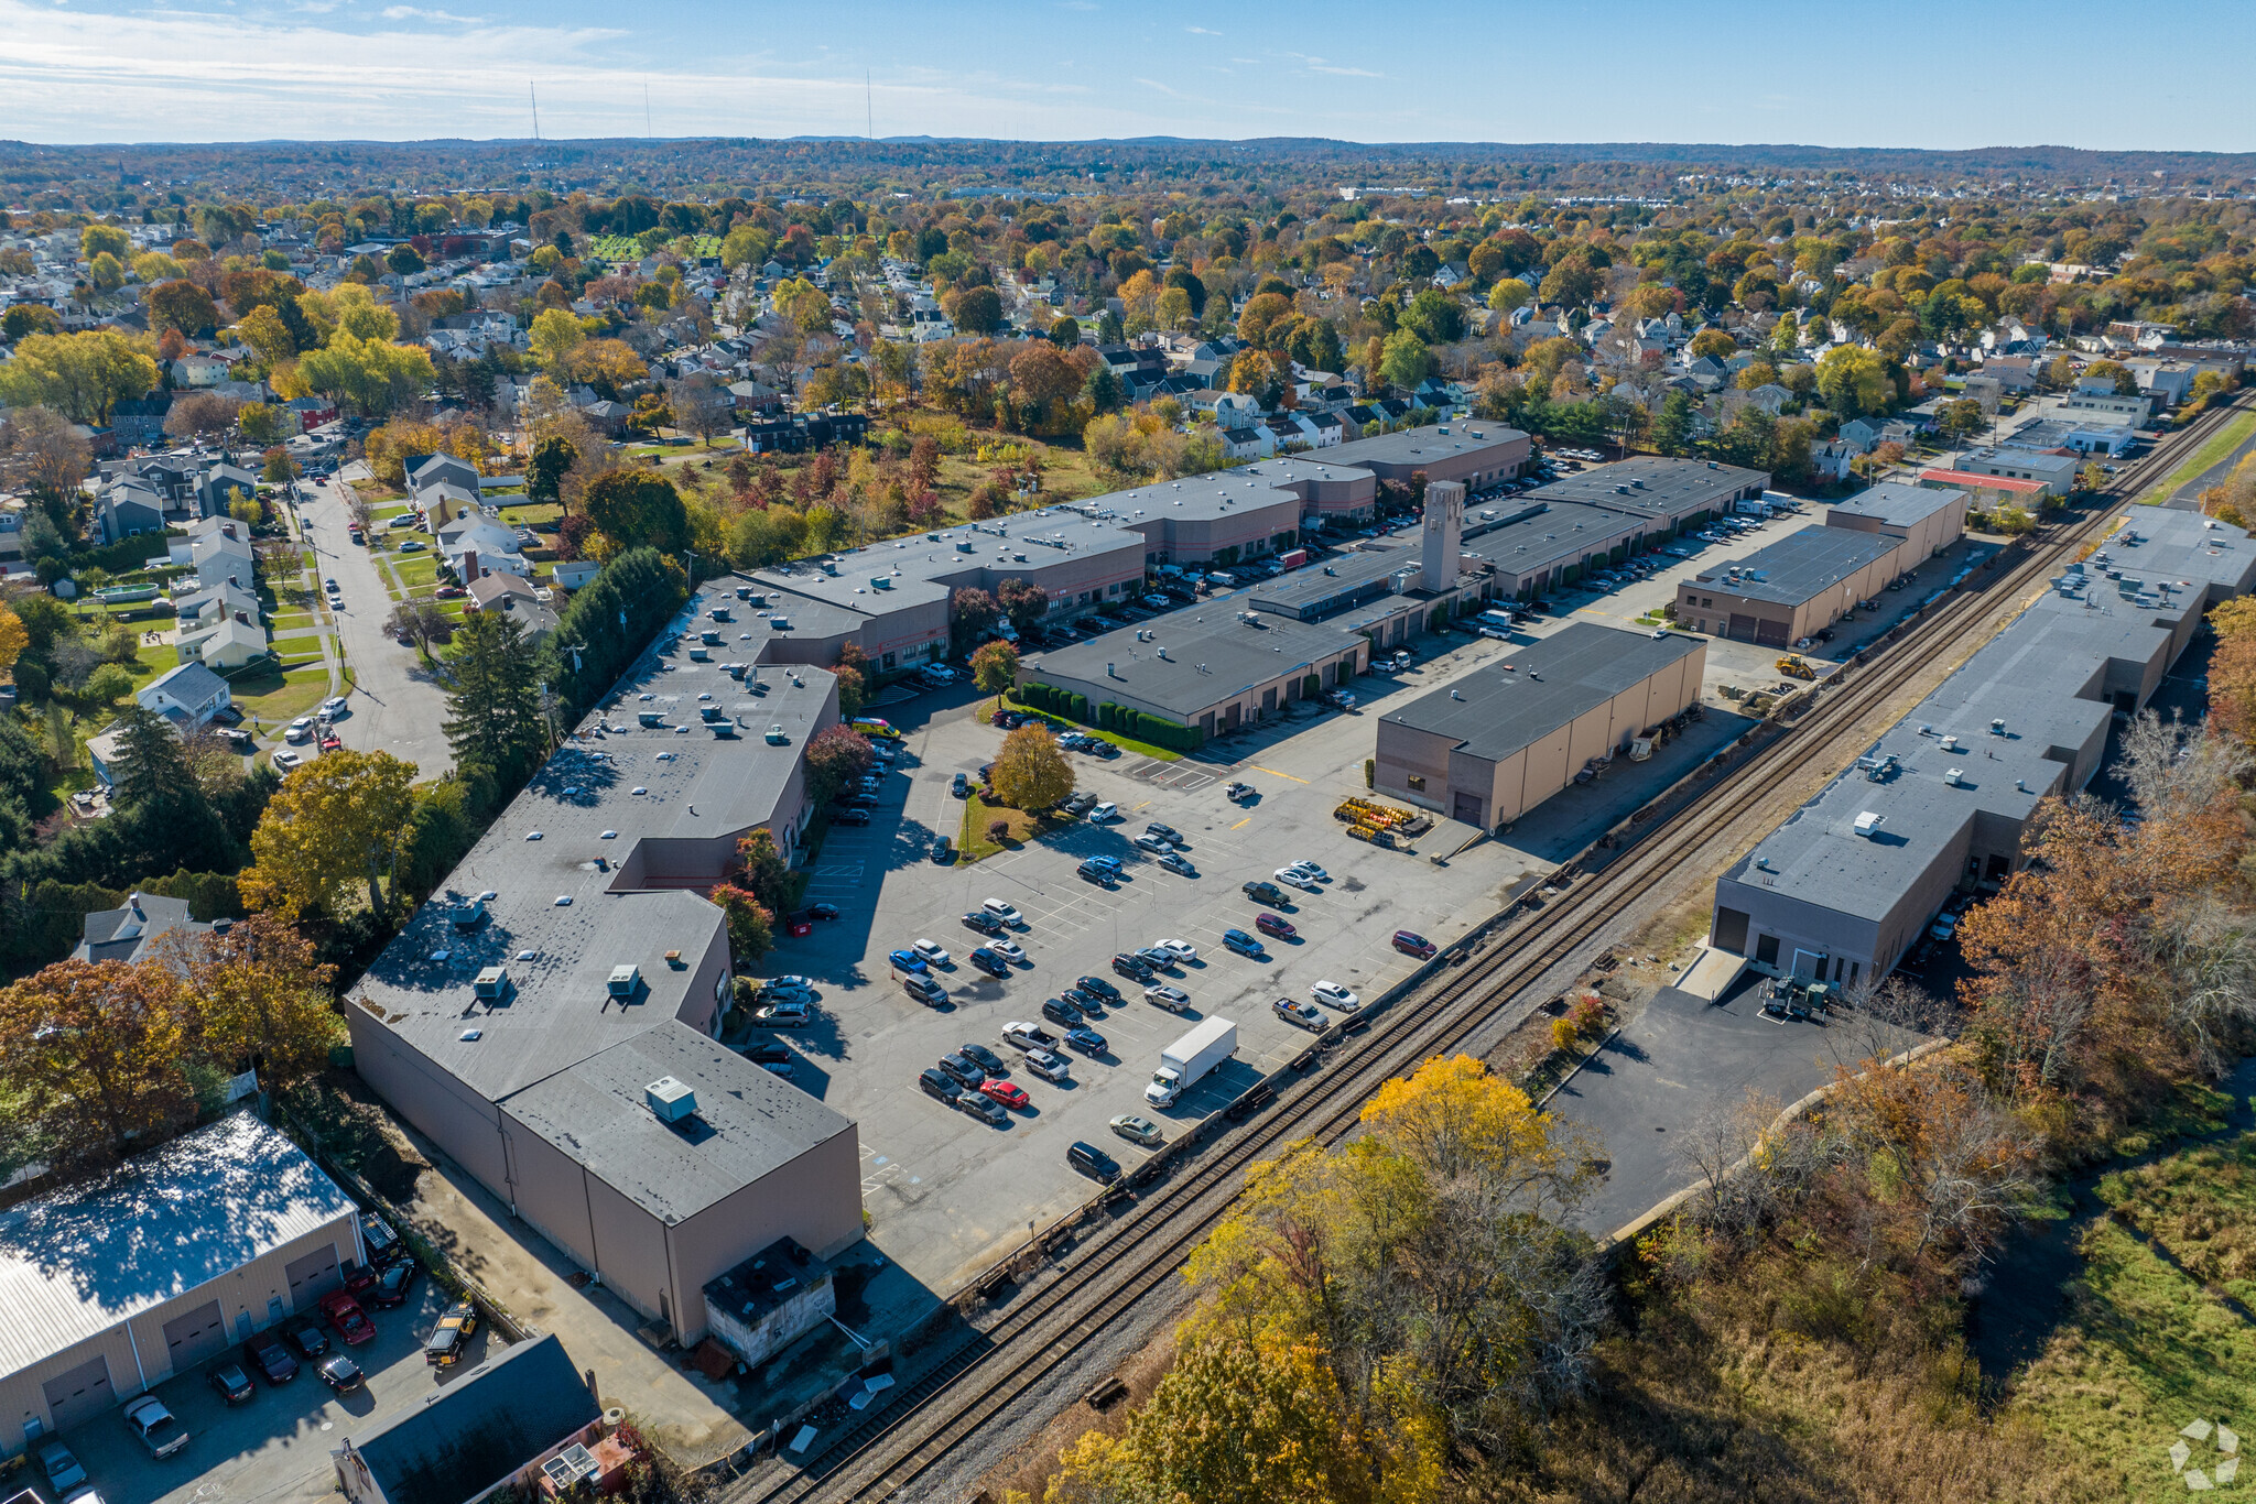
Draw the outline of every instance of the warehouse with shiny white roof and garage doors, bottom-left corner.
<instances>
[{"instance_id":1,"label":"warehouse with shiny white roof and garage doors, bottom-left corner","mask_svg":"<svg viewBox=\"0 0 2256 1504\"><path fill-rule=\"evenodd\" d=\"M248 1112L0 1213L0 1454L311 1310L365 1258L352 1200Z\"/></svg>"}]
</instances>

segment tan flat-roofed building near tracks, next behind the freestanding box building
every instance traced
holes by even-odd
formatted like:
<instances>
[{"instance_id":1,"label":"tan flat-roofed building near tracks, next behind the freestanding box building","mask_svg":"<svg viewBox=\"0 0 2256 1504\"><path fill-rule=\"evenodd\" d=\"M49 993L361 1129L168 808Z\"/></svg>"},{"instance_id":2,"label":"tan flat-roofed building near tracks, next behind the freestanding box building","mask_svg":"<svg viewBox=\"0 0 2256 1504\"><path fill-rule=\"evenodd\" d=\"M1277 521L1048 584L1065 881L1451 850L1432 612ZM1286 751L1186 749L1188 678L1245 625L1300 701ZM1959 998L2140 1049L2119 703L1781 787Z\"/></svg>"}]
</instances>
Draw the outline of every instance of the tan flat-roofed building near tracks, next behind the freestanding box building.
<instances>
[{"instance_id":1,"label":"tan flat-roofed building near tracks, next behind the freestanding box building","mask_svg":"<svg viewBox=\"0 0 2256 1504\"><path fill-rule=\"evenodd\" d=\"M1924 555L1891 532L1798 528L1676 586L1676 620L1719 638L1789 647L1870 600Z\"/></svg>"}]
</instances>

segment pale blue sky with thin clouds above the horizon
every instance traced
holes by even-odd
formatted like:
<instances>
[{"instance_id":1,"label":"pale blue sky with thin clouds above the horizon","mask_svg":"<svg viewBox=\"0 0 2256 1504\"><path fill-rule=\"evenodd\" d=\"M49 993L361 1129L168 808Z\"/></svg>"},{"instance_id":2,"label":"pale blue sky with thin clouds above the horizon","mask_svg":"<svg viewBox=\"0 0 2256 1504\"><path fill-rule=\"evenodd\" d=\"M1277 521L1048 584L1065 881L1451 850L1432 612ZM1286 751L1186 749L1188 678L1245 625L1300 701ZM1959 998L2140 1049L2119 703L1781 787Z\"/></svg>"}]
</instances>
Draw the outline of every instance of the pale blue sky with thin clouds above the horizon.
<instances>
[{"instance_id":1,"label":"pale blue sky with thin clouds above the horizon","mask_svg":"<svg viewBox=\"0 0 2256 1504\"><path fill-rule=\"evenodd\" d=\"M0 135L1333 135L2249 151L2247 0L0 0ZM869 88L864 90L864 74Z\"/></svg>"}]
</instances>

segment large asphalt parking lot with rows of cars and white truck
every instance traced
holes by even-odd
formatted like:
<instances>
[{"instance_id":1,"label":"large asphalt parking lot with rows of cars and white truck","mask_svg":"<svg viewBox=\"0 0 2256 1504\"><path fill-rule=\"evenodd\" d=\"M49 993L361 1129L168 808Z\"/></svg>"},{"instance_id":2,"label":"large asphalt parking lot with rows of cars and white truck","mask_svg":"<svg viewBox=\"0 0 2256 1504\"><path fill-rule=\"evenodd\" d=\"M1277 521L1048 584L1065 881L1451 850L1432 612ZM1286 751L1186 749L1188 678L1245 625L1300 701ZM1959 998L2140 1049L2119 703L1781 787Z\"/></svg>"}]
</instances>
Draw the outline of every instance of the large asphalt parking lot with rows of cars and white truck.
<instances>
[{"instance_id":1,"label":"large asphalt parking lot with rows of cars and white truck","mask_svg":"<svg viewBox=\"0 0 2256 1504\"><path fill-rule=\"evenodd\" d=\"M1342 796L1365 791L1363 760L1378 715L1509 652L1505 643L1462 636L1419 645L1437 652L1408 674L1358 681L1365 706L1356 715L1268 726L1180 762L1072 753L1078 787L1117 803L1126 819L1078 823L970 866L936 866L932 850L943 834L957 834L963 814L948 794L950 780L957 771L977 773L999 744L1002 733L975 717L975 704L990 701L934 695L882 710L905 731L898 771L887 776L871 825L832 828L810 864L808 900L837 904L839 918L819 922L808 938L781 940L763 965L817 983L814 1021L756 1035L781 1039L794 1055L794 1080L860 1123L862 1193L880 1249L934 1290L961 1288L1017 1247L1029 1222L1047 1227L1094 1193L1065 1164L1067 1143L1096 1143L1133 1170L1146 1150L1108 1130L1114 1114L1148 1116L1173 1139L1311 1042L1308 1030L1270 1012L1272 999L1313 1001L1311 985L1320 979L1365 999L1383 994L1417 967L1392 947L1396 929L1433 940L1462 934L1681 776L1710 740L1737 733L1737 717L1712 713L1694 728L1699 737L1663 749L1647 764L1622 764L1600 785L1568 789L1509 839L1482 841L1435 866L1428 850L1403 855L1351 841L1331 816ZM1223 794L1232 778L1252 785L1257 803L1232 805ZM1151 821L1189 837L1184 855L1198 877L1169 873L1130 846ZM1117 888L1076 875L1078 861L1099 852L1123 861ZM1261 913L1241 884L1299 859L1331 875L1322 893L1297 893L1279 911L1299 936L1263 936L1270 956L1263 963L1223 949L1225 929L1252 931ZM1026 920L1013 934L1026 963L1008 979L988 979L966 963L984 936L961 920L988 897L1017 906ZM938 972L950 992L938 1010L916 1003L887 963L887 952L920 938L952 956ZM1142 988L1110 970L1117 952L1160 938L1198 947L1196 963L1164 976L1189 992L1189 1012L1144 1003ZM1090 1019L1108 1051L1094 1060L1067 1055L1072 1082L1051 1085L1017 1067L1002 1028L1042 1021L1042 999L1083 974L1112 981L1123 1001ZM1236 1060L1173 1107L1148 1107L1142 1094L1160 1049L1216 1012L1239 1026ZM1058 1033L1054 1024L1045 1028ZM1031 1098L1002 1127L950 1109L916 1085L918 1071L966 1042L1011 1062L1011 1078Z\"/></svg>"}]
</instances>

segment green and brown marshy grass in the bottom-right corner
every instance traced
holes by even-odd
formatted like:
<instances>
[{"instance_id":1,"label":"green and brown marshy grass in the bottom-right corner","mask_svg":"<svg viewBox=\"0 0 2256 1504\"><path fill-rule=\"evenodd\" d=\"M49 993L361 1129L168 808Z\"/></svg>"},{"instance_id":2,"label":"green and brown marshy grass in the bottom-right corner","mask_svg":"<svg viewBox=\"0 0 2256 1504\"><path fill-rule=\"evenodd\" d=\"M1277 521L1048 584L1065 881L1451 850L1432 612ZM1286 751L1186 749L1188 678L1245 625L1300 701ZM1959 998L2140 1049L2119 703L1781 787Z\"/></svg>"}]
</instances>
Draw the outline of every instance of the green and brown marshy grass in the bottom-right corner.
<instances>
[{"instance_id":1,"label":"green and brown marshy grass in the bottom-right corner","mask_svg":"<svg viewBox=\"0 0 2256 1504\"><path fill-rule=\"evenodd\" d=\"M2256 1134L2202 1143L2107 1175L2112 1211L2082 1231L2069 1312L2015 1387L2010 1409L2060 1436L2125 1499L2186 1493L2168 1450L2188 1421L2256 1434ZM2188 1468L2215 1443L2188 1439Z\"/></svg>"}]
</instances>

